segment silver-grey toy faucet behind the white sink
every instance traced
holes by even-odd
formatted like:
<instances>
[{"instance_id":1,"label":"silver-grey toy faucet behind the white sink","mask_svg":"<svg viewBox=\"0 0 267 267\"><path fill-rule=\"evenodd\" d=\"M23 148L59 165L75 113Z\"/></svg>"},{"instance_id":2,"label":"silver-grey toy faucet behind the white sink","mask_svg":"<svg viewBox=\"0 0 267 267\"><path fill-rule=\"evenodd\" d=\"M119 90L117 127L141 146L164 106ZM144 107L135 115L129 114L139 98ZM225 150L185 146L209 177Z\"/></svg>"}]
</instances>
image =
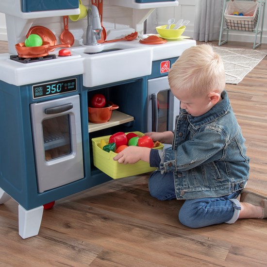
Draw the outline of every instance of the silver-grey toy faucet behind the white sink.
<instances>
[{"instance_id":1,"label":"silver-grey toy faucet behind the white sink","mask_svg":"<svg viewBox=\"0 0 267 267\"><path fill-rule=\"evenodd\" d=\"M89 5L87 13L87 30L86 30L86 46L100 45L97 40L101 38L101 22L99 17L98 8L95 5Z\"/></svg>"}]
</instances>

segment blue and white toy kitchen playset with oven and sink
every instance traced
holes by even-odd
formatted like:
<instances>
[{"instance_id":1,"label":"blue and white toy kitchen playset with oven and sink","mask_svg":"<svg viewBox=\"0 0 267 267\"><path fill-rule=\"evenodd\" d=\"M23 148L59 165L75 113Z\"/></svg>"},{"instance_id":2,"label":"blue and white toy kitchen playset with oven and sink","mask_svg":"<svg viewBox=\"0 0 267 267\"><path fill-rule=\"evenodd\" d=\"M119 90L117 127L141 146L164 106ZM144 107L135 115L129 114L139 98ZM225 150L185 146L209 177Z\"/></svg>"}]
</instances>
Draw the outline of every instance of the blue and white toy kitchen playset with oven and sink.
<instances>
[{"instance_id":1,"label":"blue and white toy kitchen playset with oven and sink","mask_svg":"<svg viewBox=\"0 0 267 267\"><path fill-rule=\"evenodd\" d=\"M0 1L9 48L0 54L0 204L17 201L22 238L38 234L45 204L112 179L94 166L92 138L172 129L179 102L167 72L196 42L151 44L143 25L155 8L175 6L176 0ZM123 38L133 32L134 40ZM33 33L43 45L23 47ZM108 122L88 122L96 93L118 106ZM157 95L168 98L163 128L152 118Z\"/></svg>"}]
</instances>

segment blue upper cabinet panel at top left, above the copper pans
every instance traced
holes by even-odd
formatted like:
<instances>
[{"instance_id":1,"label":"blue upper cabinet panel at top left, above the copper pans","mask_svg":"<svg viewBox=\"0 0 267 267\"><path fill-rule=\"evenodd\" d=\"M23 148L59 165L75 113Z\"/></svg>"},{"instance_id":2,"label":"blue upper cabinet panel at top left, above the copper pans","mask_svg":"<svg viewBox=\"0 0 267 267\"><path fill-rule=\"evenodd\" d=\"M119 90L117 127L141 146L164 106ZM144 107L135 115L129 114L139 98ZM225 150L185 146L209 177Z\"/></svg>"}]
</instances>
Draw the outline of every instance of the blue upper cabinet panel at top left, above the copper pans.
<instances>
[{"instance_id":1,"label":"blue upper cabinet panel at top left, above the copper pans","mask_svg":"<svg viewBox=\"0 0 267 267\"><path fill-rule=\"evenodd\" d=\"M21 0L22 12L79 8L79 0Z\"/></svg>"}]
</instances>

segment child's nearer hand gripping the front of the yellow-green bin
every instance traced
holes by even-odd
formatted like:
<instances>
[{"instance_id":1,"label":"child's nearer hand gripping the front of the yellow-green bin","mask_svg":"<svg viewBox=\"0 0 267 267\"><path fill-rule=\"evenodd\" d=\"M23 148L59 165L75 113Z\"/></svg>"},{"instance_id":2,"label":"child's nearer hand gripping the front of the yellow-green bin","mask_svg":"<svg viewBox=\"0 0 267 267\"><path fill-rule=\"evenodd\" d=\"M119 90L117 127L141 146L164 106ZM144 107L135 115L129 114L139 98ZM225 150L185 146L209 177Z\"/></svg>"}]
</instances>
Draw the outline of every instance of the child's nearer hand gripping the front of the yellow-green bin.
<instances>
[{"instance_id":1,"label":"child's nearer hand gripping the front of the yellow-green bin","mask_svg":"<svg viewBox=\"0 0 267 267\"><path fill-rule=\"evenodd\" d=\"M150 149L144 147L130 146L119 152L113 159L118 163L136 163L139 160L149 162Z\"/></svg>"}]
</instances>

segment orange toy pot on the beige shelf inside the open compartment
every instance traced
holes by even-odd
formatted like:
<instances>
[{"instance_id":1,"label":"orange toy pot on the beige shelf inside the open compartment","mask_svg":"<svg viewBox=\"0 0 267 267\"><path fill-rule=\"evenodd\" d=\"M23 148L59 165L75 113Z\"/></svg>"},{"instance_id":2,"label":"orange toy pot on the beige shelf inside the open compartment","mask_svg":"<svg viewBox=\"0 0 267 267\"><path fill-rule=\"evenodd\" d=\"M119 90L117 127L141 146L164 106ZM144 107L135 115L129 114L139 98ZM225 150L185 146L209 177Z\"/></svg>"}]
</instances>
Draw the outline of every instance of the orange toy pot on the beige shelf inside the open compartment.
<instances>
[{"instance_id":1,"label":"orange toy pot on the beige shelf inside the open compartment","mask_svg":"<svg viewBox=\"0 0 267 267\"><path fill-rule=\"evenodd\" d=\"M103 108L88 107L88 120L93 123L108 122L111 118L112 111L118 109L118 105L107 101L107 106Z\"/></svg>"}]
</instances>

